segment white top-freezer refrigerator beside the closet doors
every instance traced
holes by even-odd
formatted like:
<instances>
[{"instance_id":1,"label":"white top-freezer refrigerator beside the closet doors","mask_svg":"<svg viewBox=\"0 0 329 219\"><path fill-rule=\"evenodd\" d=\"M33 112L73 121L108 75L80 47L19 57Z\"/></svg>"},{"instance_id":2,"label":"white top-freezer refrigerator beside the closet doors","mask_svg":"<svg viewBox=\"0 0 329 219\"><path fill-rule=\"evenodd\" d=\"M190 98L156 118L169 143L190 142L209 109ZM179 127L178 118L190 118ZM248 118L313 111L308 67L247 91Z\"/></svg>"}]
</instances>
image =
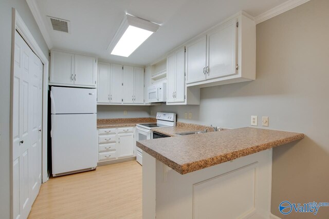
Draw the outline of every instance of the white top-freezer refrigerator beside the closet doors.
<instances>
[{"instance_id":1,"label":"white top-freezer refrigerator beside the closet doors","mask_svg":"<svg viewBox=\"0 0 329 219\"><path fill-rule=\"evenodd\" d=\"M96 169L96 89L51 87L52 175Z\"/></svg>"}]
</instances>

